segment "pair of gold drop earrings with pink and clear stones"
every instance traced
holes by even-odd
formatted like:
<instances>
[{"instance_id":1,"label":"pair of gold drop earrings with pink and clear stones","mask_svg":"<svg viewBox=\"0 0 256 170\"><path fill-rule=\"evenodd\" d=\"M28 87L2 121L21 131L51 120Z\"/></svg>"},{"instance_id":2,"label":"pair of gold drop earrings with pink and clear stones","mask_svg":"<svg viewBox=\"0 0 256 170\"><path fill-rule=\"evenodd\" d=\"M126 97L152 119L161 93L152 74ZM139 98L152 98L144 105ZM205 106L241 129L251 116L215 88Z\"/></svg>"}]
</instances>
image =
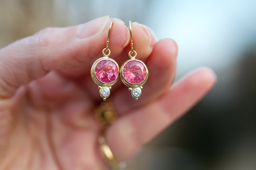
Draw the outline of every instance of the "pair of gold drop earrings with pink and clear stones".
<instances>
[{"instance_id":1,"label":"pair of gold drop earrings with pink and clear stones","mask_svg":"<svg viewBox=\"0 0 256 170\"><path fill-rule=\"evenodd\" d=\"M116 61L108 57L110 55L108 43L112 24L113 20L110 22L106 48L102 50L103 57L97 59L92 64L92 79L98 85L100 96L104 101L110 95L111 86L116 83L119 76L121 77L122 82L129 87L132 97L138 100L142 93L142 85L148 79L148 68L142 61L135 59L137 52L133 49L132 21L129 21L131 50L128 55L130 59L124 62L120 69Z\"/></svg>"}]
</instances>

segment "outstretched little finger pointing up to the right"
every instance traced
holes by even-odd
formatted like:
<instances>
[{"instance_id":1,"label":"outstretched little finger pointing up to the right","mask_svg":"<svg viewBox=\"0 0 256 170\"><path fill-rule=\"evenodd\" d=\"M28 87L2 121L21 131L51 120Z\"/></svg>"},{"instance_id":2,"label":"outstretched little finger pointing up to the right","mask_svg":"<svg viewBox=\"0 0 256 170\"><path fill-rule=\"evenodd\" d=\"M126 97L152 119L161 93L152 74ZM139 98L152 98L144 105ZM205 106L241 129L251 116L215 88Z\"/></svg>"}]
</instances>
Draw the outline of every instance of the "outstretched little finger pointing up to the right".
<instances>
[{"instance_id":1,"label":"outstretched little finger pointing up to the right","mask_svg":"<svg viewBox=\"0 0 256 170\"><path fill-rule=\"evenodd\" d=\"M170 123L183 115L212 88L215 74L202 68L176 83L154 103L120 117L106 132L106 140L118 161L132 156Z\"/></svg>"}]
</instances>

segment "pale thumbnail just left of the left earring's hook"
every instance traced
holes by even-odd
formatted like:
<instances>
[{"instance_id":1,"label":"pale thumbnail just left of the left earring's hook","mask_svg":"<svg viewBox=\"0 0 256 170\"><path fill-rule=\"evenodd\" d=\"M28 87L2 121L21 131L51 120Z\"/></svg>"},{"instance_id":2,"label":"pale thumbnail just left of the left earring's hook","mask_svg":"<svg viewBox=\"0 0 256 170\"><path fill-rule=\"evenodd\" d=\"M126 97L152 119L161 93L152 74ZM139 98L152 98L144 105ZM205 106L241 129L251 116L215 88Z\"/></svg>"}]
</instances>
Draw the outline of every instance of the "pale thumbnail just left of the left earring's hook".
<instances>
[{"instance_id":1,"label":"pale thumbnail just left of the left earring's hook","mask_svg":"<svg viewBox=\"0 0 256 170\"><path fill-rule=\"evenodd\" d=\"M101 33L106 27L108 20L109 20L109 16L104 16L104 17L96 18L95 20L80 24L78 27L78 38L87 38L87 37L91 37L93 35Z\"/></svg>"}]
</instances>

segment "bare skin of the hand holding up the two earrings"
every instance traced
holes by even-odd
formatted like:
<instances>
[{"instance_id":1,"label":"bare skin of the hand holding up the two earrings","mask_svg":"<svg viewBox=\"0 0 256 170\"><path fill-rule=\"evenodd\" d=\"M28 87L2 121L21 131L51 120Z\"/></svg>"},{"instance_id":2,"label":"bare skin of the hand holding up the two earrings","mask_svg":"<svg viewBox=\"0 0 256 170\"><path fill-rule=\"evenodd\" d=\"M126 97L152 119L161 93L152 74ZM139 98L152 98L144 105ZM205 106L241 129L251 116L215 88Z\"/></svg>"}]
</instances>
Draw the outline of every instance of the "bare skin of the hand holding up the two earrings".
<instances>
[{"instance_id":1,"label":"bare skin of the hand holding up the two earrings","mask_svg":"<svg viewBox=\"0 0 256 170\"><path fill-rule=\"evenodd\" d=\"M130 34L121 20L112 20L110 57L121 66L129 59ZM91 23L86 29L46 28L0 49L0 169L108 168L99 153L102 129L92 113L102 98L90 67L102 57L110 18L94 22L106 26L98 33ZM149 78L138 101L120 80L112 87L119 118L104 136L118 161L182 116L216 80L212 70L198 68L172 84L176 42L156 41L139 23L132 24L132 33Z\"/></svg>"}]
</instances>

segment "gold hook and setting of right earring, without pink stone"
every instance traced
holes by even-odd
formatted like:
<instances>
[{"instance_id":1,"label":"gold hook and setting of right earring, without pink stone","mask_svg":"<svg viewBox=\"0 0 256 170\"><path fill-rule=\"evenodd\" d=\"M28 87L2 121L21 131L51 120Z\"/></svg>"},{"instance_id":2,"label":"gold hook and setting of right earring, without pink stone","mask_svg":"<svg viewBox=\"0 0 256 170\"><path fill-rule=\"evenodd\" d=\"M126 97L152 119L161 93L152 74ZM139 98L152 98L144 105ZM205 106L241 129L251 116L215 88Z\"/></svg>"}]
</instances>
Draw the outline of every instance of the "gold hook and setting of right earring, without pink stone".
<instances>
[{"instance_id":1,"label":"gold hook and setting of right earring, without pink stone","mask_svg":"<svg viewBox=\"0 0 256 170\"><path fill-rule=\"evenodd\" d=\"M137 56L137 52L133 49L134 45L133 45L133 40L132 40L132 21L129 21L129 29L130 29L130 35L131 35L131 50L129 51L128 55L129 55L130 59L127 60L126 62L124 62L124 64L121 66L121 68L120 68L120 78L121 78L122 82L126 86L129 87L128 90L131 91L132 97L134 97L135 100L138 100L138 98L140 97L140 95L142 93L142 88L143 88L142 86L145 84L145 82L148 79L148 67L142 61L140 61L138 59L135 59L135 57ZM146 77L142 82L140 82L138 84L132 84L132 83L128 82L127 80L125 80L125 78L124 78L124 72L123 72L124 66L130 61L138 61L138 62L142 63L144 65L144 67L146 68ZM139 96L134 96L133 90L137 90L138 92L140 92L140 95Z\"/></svg>"}]
</instances>

